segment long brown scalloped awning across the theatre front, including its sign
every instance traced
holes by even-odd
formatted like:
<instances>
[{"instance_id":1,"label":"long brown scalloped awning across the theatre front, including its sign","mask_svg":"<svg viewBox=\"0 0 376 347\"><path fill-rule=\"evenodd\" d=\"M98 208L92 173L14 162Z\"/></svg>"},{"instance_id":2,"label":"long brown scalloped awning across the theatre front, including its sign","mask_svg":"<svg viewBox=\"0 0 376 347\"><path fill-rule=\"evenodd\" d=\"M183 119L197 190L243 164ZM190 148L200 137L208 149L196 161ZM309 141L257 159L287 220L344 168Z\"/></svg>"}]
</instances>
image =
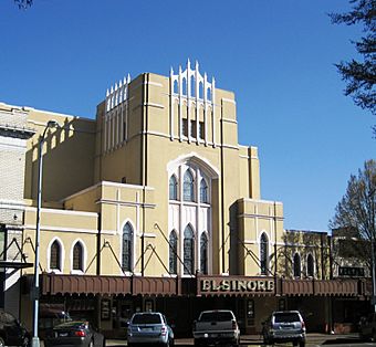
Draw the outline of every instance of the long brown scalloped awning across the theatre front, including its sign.
<instances>
[{"instance_id":1,"label":"long brown scalloped awning across the theatre front, including its sign","mask_svg":"<svg viewBox=\"0 0 376 347\"><path fill-rule=\"evenodd\" d=\"M41 292L43 295L341 296L361 298L370 295L368 282L368 278L293 280L231 275L198 275L185 278L179 276L148 277L42 273Z\"/></svg>"}]
</instances>

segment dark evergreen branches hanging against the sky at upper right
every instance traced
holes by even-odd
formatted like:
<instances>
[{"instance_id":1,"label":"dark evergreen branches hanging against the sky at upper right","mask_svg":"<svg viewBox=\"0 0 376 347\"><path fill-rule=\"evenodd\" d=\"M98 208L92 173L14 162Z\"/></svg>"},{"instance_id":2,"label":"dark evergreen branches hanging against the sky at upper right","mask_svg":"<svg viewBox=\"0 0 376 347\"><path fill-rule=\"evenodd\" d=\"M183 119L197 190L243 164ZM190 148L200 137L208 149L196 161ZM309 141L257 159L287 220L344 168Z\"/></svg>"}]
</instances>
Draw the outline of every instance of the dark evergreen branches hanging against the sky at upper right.
<instances>
[{"instance_id":1,"label":"dark evergreen branches hanging against the sky at upper right","mask_svg":"<svg viewBox=\"0 0 376 347\"><path fill-rule=\"evenodd\" d=\"M347 13L332 13L333 23L347 25L362 24L364 36L353 42L362 61L353 59L351 62L335 64L347 85L346 96L353 97L355 104L376 114L376 1L349 0L352 11ZM374 127L376 133L376 128Z\"/></svg>"}]
</instances>

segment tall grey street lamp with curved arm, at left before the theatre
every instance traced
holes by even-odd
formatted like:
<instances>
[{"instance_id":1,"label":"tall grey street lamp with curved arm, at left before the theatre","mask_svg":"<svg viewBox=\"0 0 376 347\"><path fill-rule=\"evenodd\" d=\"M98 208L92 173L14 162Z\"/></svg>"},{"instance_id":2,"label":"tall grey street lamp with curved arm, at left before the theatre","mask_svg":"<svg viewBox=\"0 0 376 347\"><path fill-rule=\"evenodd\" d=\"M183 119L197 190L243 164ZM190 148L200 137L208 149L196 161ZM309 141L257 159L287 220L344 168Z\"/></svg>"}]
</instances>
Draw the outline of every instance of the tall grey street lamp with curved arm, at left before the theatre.
<instances>
[{"instance_id":1,"label":"tall grey street lamp with curved arm, at left before the theatre","mask_svg":"<svg viewBox=\"0 0 376 347\"><path fill-rule=\"evenodd\" d=\"M38 336L38 315L39 315L39 243L41 233L41 204L42 204L42 168L43 168L43 144L45 134L49 128L59 127L56 120L49 120L43 134L39 137L38 145L38 199L36 199L36 230L35 230L35 262L34 262L34 287L33 287L33 302L34 302L34 316L33 316L33 337L31 339L32 347L40 347Z\"/></svg>"}]
</instances>

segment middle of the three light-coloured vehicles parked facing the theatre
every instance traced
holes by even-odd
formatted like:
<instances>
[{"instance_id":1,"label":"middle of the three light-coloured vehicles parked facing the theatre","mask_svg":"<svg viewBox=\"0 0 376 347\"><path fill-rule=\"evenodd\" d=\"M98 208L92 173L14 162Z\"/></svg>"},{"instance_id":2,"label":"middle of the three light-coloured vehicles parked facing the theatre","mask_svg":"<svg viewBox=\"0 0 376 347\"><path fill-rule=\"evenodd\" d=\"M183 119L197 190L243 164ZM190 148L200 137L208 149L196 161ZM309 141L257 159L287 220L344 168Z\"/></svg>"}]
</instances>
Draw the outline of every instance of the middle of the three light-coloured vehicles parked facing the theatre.
<instances>
[{"instance_id":1,"label":"middle of the three light-coloured vehicles parked facing the theatre","mask_svg":"<svg viewBox=\"0 0 376 347\"><path fill-rule=\"evenodd\" d=\"M240 329L232 311L203 311L194 323L195 346L239 346Z\"/></svg>"}]
</instances>

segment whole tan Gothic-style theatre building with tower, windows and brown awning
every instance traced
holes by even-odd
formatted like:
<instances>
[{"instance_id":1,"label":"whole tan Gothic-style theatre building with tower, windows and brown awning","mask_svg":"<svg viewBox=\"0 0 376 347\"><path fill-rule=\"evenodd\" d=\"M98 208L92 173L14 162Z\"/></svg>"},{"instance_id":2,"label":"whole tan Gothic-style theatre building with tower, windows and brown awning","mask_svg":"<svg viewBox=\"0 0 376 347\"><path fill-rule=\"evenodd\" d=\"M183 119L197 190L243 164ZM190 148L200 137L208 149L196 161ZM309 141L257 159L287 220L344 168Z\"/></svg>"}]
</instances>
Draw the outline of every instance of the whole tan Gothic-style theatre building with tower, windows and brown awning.
<instances>
[{"instance_id":1,"label":"whole tan Gothic-style theatre building with tower, windows and brown awning","mask_svg":"<svg viewBox=\"0 0 376 347\"><path fill-rule=\"evenodd\" d=\"M365 280L334 278L326 232L284 230L282 202L262 199L258 148L238 141L234 94L197 63L122 78L93 119L0 106L22 111L35 133L24 165L30 263L44 134L41 328L64 311L124 336L134 312L154 309L189 335L201 309L231 308L242 332L258 333L272 311L296 308L324 332L368 303ZM31 326L33 267L19 271Z\"/></svg>"}]
</instances>

